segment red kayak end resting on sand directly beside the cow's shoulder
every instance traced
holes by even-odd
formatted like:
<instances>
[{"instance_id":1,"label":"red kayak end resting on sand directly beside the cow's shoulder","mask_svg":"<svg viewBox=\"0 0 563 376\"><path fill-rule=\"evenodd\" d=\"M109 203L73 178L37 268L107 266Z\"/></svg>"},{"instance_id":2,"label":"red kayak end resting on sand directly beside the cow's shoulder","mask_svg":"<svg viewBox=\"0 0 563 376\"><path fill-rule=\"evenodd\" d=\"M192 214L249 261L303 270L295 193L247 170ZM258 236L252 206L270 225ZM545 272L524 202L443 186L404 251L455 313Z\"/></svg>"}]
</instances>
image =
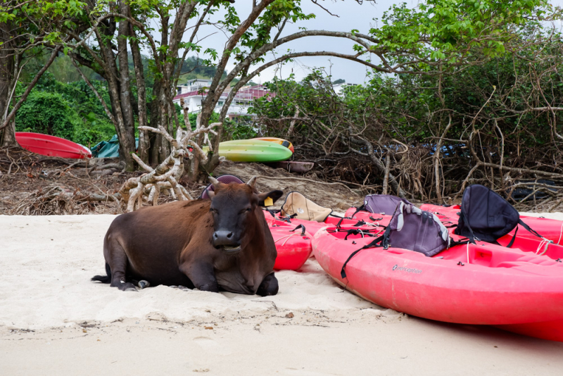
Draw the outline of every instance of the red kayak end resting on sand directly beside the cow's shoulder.
<instances>
[{"instance_id":1,"label":"red kayak end resting on sand directly beside the cow's shoulder","mask_svg":"<svg viewBox=\"0 0 563 376\"><path fill-rule=\"evenodd\" d=\"M303 227L296 228L280 220L268 223L276 244L276 270L298 270L311 256L311 235Z\"/></svg>"}]
</instances>

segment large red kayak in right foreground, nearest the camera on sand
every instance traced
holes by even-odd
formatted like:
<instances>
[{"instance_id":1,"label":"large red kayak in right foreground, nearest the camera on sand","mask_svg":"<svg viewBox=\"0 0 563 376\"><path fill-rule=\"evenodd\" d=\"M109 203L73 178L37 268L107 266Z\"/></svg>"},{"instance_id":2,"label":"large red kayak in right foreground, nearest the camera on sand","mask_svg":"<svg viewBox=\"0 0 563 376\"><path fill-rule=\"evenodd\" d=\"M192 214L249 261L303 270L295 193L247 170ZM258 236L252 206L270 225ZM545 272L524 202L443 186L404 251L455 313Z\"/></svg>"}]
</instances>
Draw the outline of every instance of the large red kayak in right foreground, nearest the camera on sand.
<instances>
[{"instance_id":1,"label":"large red kayak in right foreground, nearest the camera on sand","mask_svg":"<svg viewBox=\"0 0 563 376\"><path fill-rule=\"evenodd\" d=\"M327 231L328 230L328 231ZM390 247L353 251L373 237L317 232L315 258L336 282L380 306L444 322L495 325L563 341L563 263L494 244L462 244L436 256ZM453 236L455 240L460 237ZM355 244L353 244L355 243Z\"/></svg>"}]
</instances>

